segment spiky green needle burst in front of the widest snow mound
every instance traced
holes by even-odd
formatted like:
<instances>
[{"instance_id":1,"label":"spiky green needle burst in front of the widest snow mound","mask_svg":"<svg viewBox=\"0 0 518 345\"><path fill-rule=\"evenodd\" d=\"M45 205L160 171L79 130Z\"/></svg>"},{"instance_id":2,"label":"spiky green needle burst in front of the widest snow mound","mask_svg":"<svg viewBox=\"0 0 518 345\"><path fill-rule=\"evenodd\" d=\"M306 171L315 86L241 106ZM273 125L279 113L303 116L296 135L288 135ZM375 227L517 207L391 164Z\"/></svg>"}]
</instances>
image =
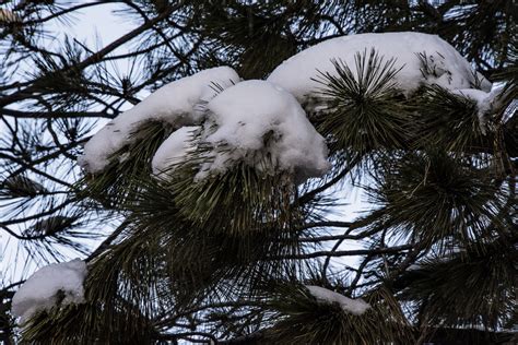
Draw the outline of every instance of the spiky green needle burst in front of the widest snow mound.
<instances>
[{"instance_id":1,"label":"spiky green needle burst in front of the widest snow mound","mask_svg":"<svg viewBox=\"0 0 518 345\"><path fill-rule=\"evenodd\" d=\"M316 79L327 110L315 119L318 131L329 138L331 153L403 147L412 121L393 81L401 70L396 60L384 61L373 49L356 53L354 72L341 60L332 64L335 75L319 71Z\"/></svg>"}]
</instances>

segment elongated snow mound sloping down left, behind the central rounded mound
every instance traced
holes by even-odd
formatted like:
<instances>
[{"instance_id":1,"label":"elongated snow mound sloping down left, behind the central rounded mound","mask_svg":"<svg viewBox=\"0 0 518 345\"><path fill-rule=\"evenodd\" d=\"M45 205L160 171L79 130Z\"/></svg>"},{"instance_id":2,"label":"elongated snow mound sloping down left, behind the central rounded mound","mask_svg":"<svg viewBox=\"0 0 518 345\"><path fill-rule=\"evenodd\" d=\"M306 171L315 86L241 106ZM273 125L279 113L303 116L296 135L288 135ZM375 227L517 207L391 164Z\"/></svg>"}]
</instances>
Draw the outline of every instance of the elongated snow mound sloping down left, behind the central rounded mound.
<instances>
[{"instance_id":1,"label":"elongated snow mound sloping down left, behind the central rounded mound","mask_svg":"<svg viewBox=\"0 0 518 345\"><path fill-rule=\"evenodd\" d=\"M210 100L219 87L225 88L238 82L239 76L233 69L219 67L158 88L92 136L78 163L91 174L103 171L110 155L129 143L130 133L143 121L164 121L175 128L200 123L204 114L202 104Z\"/></svg>"}]
</instances>

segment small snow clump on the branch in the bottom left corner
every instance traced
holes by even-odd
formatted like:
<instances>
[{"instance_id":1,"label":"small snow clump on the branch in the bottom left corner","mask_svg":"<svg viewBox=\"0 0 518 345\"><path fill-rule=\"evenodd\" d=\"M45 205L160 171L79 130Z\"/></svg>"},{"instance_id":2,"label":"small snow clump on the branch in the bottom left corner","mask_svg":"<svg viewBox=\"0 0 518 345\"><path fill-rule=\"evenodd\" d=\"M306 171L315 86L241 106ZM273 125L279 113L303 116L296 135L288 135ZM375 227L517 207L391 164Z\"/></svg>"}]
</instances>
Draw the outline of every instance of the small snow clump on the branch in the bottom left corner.
<instances>
[{"instance_id":1,"label":"small snow clump on the branch in the bottom left corner","mask_svg":"<svg viewBox=\"0 0 518 345\"><path fill-rule=\"evenodd\" d=\"M49 310L59 304L84 302L85 276L86 263L79 259L42 267L14 294L11 311L24 323L36 311ZM63 299L59 300L61 293Z\"/></svg>"}]
</instances>

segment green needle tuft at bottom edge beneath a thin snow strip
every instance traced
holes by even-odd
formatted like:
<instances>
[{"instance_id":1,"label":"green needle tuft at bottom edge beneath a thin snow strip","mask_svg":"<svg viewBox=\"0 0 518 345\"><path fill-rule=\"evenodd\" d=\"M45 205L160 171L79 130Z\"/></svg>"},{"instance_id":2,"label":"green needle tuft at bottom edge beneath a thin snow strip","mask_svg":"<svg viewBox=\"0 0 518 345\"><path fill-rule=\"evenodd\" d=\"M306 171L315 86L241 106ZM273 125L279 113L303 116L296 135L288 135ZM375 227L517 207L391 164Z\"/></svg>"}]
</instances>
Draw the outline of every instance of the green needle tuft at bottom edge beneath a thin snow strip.
<instances>
[{"instance_id":1,"label":"green needle tuft at bottom edge beneath a thin snow strip","mask_svg":"<svg viewBox=\"0 0 518 345\"><path fill-rule=\"evenodd\" d=\"M412 343L401 309L391 294L377 290L365 298L363 314L345 312L341 306L317 300L299 284L280 284L270 302L278 322L267 330L274 344L381 344Z\"/></svg>"}]
</instances>

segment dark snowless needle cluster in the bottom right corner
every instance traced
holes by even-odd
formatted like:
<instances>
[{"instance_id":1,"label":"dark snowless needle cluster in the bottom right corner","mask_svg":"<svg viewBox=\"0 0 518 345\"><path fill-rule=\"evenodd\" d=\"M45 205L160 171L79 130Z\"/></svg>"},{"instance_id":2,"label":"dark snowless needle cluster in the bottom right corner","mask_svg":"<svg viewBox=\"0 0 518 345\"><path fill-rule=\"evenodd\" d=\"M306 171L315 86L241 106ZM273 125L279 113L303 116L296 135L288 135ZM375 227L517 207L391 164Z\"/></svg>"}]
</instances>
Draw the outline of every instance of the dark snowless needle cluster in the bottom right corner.
<instances>
[{"instance_id":1,"label":"dark snowless needle cluster in the bottom right corner","mask_svg":"<svg viewBox=\"0 0 518 345\"><path fill-rule=\"evenodd\" d=\"M445 260L423 262L399 279L426 325L503 328L516 311L516 236L472 243ZM423 324L424 325L424 324Z\"/></svg>"}]
</instances>

